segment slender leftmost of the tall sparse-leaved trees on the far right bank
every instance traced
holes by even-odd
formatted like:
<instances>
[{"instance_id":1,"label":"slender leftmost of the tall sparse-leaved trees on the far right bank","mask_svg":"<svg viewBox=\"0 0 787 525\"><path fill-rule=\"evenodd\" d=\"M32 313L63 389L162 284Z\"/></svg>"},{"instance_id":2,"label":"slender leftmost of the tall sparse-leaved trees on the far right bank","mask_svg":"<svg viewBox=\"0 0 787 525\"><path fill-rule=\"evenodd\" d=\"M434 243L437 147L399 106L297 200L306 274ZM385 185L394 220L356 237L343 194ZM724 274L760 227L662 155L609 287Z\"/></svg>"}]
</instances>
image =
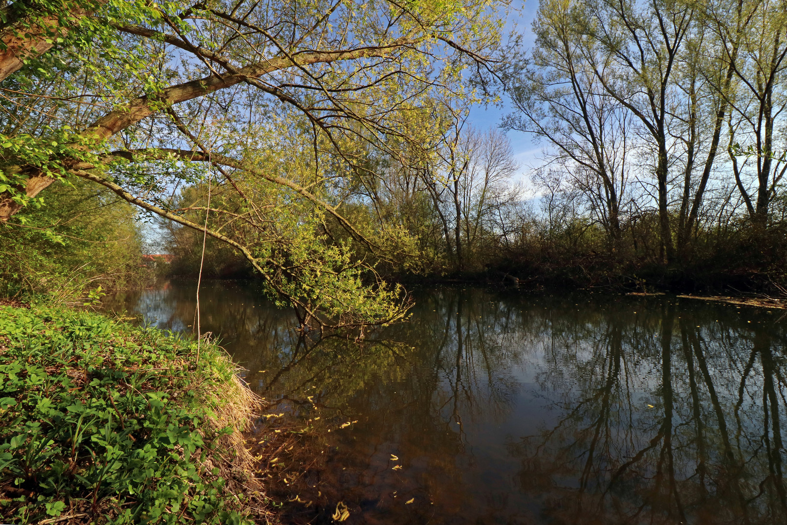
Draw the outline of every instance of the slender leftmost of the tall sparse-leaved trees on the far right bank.
<instances>
[{"instance_id":1,"label":"slender leftmost of the tall sparse-leaved trees on the far right bank","mask_svg":"<svg viewBox=\"0 0 787 525\"><path fill-rule=\"evenodd\" d=\"M549 142L550 159L585 196L614 249L629 184L633 116L604 94L602 79L615 66L604 46L583 31L585 16L578 4L539 5L534 50L509 73L519 114L508 116L504 126Z\"/></svg>"}]
</instances>

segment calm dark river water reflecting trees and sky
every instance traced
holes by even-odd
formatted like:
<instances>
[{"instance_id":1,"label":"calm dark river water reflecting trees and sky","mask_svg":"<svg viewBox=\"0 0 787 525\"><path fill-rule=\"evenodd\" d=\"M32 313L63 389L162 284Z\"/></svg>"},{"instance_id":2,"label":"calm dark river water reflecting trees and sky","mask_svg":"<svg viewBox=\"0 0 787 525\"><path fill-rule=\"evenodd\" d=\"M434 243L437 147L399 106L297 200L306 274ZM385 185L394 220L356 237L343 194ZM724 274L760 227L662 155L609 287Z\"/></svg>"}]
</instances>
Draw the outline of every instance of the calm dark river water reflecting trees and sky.
<instances>
[{"instance_id":1,"label":"calm dark river water reflecting trees and sky","mask_svg":"<svg viewBox=\"0 0 787 525\"><path fill-rule=\"evenodd\" d=\"M108 306L190 331L194 291L173 282ZM787 523L784 311L414 297L408 323L314 344L254 285L203 283L202 330L271 413L318 434L322 467L302 485L333 501L294 520L331 523L343 501L345 523Z\"/></svg>"}]
</instances>

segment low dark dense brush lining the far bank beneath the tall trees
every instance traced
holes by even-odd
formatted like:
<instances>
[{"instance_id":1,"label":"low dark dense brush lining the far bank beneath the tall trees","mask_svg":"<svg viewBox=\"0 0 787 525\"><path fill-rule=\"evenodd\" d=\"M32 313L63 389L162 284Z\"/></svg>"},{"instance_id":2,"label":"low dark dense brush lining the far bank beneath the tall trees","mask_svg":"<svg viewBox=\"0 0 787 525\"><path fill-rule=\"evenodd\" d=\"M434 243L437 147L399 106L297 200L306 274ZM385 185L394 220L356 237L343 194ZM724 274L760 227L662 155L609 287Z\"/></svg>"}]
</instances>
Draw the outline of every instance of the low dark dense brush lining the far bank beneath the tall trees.
<instances>
[{"instance_id":1,"label":"low dark dense brush lining the far bank beneath the tall trees","mask_svg":"<svg viewBox=\"0 0 787 525\"><path fill-rule=\"evenodd\" d=\"M609 291L676 291L687 293L764 293L787 290L787 221L774 217L764 229L750 221L728 220L696 231L692 243L674 261L667 261L660 243L658 217L643 215L623 224L618 239L578 213L534 211L519 203L499 229L490 225L473 238L440 235L436 213L401 215L416 238L419 253L411 264L381 262L387 279L460 279L509 283L519 279L525 289L588 288ZM341 238L338 227L331 232ZM170 275L195 276L201 262L202 236L186 228L170 228L167 250L175 259ZM360 253L363 247L359 246ZM371 259L373 257L369 257ZM415 261L416 264L412 264ZM208 239L203 275L253 278L250 265L224 243Z\"/></svg>"}]
</instances>

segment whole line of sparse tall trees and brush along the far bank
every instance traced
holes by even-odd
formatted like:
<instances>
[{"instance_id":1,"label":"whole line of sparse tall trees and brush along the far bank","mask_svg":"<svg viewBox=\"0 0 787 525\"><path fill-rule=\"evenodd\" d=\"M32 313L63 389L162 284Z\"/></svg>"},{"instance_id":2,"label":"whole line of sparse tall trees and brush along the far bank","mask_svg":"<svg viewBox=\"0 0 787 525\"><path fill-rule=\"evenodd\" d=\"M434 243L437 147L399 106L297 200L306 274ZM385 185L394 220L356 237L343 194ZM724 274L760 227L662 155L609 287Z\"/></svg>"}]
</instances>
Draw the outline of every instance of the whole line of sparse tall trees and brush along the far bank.
<instances>
[{"instance_id":1,"label":"whole line of sparse tall trees and brush along the far bank","mask_svg":"<svg viewBox=\"0 0 787 525\"><path fill-rule=\"evenodd\" d=\"M400 278L783 291L785 31L770 0L541 2L532 50L512 41L496 84L514 108L508 136L457 112L430 157L372 158L379 176L342 212L412 244L401 258L357 253ZM536 168L512 153L529 139ZM338 226L323 226L336 242ZM201 235L168 243L173 271L193 273ZM212 275L249 268L211 246Z\"/></svg>"}]
</instances>

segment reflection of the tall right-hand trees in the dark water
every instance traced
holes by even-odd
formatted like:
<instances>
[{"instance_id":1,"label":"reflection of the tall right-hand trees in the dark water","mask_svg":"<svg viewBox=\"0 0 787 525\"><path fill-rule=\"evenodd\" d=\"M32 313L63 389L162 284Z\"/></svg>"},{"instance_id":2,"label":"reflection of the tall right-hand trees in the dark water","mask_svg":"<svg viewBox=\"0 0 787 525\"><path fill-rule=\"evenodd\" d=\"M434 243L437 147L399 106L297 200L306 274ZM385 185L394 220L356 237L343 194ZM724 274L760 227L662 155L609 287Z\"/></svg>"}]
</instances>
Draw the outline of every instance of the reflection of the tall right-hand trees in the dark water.
<instances>
[{"instance_id":1,"label":"reflection of the tall right-hand trees in the dark water","mask_svg":"<svg viewBox=\"0 0 787 525\"><path fill-rule=\"evenodd\" d=\"M512 442L520 489L560 523L785 523L783 330L645 311L604 316L581 349L552 331L538 382L563 416Z\"/></svg>"}]
</instances>

